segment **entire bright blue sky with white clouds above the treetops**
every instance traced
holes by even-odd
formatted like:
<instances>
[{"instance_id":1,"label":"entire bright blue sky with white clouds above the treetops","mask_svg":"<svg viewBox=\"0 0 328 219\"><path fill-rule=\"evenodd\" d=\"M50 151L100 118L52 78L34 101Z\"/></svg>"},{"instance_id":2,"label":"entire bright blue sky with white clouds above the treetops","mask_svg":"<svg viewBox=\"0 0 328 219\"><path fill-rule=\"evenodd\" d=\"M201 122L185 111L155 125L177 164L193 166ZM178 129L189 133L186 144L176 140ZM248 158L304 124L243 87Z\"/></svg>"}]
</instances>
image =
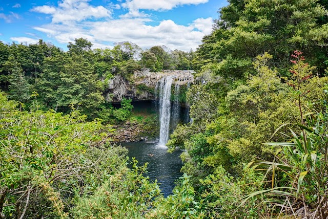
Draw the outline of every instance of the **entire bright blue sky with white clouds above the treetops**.
<instances>
[{"instance_id":1,"label":"entire bright blue sky with white clouds above the treetops","mask_svg":"<svg viewBox=\"0 0 328 219\"><path fill-rule=\"evenodd\" d=\"M74 38L94 48L131 41L146 49L165 45L195 50L209 34L225 0L0 0L0 40L67 49Z\"/></svg>"}]
</instances>

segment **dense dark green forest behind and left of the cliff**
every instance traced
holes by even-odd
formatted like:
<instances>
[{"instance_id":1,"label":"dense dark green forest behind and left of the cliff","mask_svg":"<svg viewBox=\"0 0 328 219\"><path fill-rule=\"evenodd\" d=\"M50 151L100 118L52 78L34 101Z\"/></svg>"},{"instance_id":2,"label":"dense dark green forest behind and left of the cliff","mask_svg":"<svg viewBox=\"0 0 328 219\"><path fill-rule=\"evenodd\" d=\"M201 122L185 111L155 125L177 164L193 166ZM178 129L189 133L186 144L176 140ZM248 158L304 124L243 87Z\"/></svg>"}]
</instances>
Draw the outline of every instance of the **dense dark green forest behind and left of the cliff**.
<instances>
[{"instance_id":1,"label":"dense dark green forest behind and left of the cliff","mask_svg":"<svg viewBox=\"0 0 328 219\"><path fill-rule=\"evenodd\" d=\"M165 46L142 51L132 42L92 50L92 43L83 38L67 47L64 52L41 39L31 45L0 42L0 86L8 92L8 98L30 107L31 93L36 92L42 109L67 113L73 104L89 119L122 121L129 110L115 111L105 101L108 80L117 75L133 83L133 72L144 69L190 70L194 57L193 51L171 51ZM126 103L124 100L123 105Z\"/></svg>"}]
</instances>

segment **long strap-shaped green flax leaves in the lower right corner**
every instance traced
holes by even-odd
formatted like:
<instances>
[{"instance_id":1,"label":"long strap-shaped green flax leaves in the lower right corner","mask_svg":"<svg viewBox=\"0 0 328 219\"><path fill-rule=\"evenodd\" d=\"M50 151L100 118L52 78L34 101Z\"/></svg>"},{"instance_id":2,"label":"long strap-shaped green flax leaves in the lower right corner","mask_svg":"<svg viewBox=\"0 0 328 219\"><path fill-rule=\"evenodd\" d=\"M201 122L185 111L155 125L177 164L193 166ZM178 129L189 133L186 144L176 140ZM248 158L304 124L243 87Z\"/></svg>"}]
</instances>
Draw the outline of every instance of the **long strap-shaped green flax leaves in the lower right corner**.
<instances>
[{"instance_id":1,"label":"long strap-shaped green flax leaves in the lower right corner","mask_svg":"<svg viewBox=\"0 0 328 219\"><path fill-rule=\"evenodd\" d=\"M297 213L298 215L326 217L326 207L323 205L327 201L327 189L324 186L328 167L325 156L327 142L323 138L327 130L326 107L327 105L324 103L323 112L312 114L306 118L308 126L299 124L303 128L300 135L296 135L290 129L293 136L291 141L267 143L276 147L282 146L282 149L277 150L273 162L254 162L257 169L262 171L264 168L268 175L272 174L272 187L277 190L277 195L286 194L285 198L290 199L293 204L290 206L286 203L282 204L283 199L272 200L271 202L273 204L275 202L281 203L281 209L288 207L288 211L291 213L299 208L295 203L300 202L303 208ZM282 186L284 187L280 188ZM314 211L314 209L317 210Z\"/></svg>"}]
</instances>

